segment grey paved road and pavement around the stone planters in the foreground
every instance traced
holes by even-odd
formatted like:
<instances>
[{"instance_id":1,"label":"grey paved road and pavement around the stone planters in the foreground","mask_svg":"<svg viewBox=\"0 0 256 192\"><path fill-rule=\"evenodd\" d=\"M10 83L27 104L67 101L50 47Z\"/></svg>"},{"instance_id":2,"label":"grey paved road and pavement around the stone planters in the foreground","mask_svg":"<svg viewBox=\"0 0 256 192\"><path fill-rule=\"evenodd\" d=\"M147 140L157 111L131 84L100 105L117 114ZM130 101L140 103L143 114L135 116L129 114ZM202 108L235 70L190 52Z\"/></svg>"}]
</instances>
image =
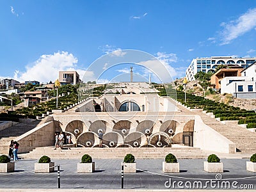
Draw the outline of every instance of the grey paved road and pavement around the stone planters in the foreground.
<instances>
[{"instance_id":1,"label":"grey paved road and pavement around the stone planters in the foreground","mask_svg":"<svg viewBox=\"0 0 256 192\"><path fill-rule=\"evenodd\" d=\"M77 173L77 163L79 159L52 159L55 164L61 165L61 188L62 189L120 189L121 188L121 173L120 164L122 159L93 159L95 161L94 173ZM125 189L166 189L166 185L172 186L175 183L175 189L179 189L177 182L185 189L186 185L193 182L201 181L203 186L207 180L215 179L216 173L204 172L203 162L205 159L180 159L180 173L163 173L163 159L137 159L137 173L125 173L124 188ZM253 184L253 189L256 189L256 173L246 171L246 161L248 159L223 159L224 173L221 173L223 179L233 178L228 180L238 182L235 186L241 188L241 184ZM57 172L54 173L34 173L35 160L20 160L15 163L14 173L0 173L0 188L58 188ZM146 172L143 172L143 171ZM32 172L29 172L32 171ZM148 173L152 172L152 173ZM156 174L153 174L156 173ZM184 178L173 178L184 177ZM252 177L247 179L236 179L241 177ZM170 180L171 179L171 180ZM219 180L221 189L221 182ZM216 180L215 180L216 181ZM206 182L207 184L207 182ZM214 186L214 183L212 183ZM223 186L225 188L225 185ZM246 188L250 186L245 186ZM207 189L211 188L211 184L207 184ZM218 189L218 182L216 188ZM233 188L234 189L234 188Z\"/></svg>"}]
</instances>

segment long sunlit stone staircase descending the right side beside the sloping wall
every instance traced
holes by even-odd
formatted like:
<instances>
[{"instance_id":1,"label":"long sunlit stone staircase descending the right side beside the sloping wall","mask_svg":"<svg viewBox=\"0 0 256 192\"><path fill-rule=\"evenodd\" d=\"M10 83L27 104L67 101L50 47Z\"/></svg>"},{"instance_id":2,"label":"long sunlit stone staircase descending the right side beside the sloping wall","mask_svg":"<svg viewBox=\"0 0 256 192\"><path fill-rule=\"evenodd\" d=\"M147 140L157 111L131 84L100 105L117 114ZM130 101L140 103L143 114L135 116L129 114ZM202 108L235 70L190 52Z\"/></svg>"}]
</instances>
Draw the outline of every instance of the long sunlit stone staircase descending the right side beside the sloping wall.
<instances>
[{"instance_id":1,"label":"long sunlit stone staircase descending the right side beside the sloping wall","mask_svg":"<svg viewBox=\"0 0 256 192\"><path fill-rule=\"evenodd\" d=\"M229 121L227 124L223 124L200 111L192 112L180 104L177 105L182 109L182 112L187 115L199 115L205 125L220 132L225 138L234 142L236 144L237 152L241 152L242 154L256 153L256 132L251 132L246 128L240 127L237 125L237 122Z\"/></svg>"}]
</instances>

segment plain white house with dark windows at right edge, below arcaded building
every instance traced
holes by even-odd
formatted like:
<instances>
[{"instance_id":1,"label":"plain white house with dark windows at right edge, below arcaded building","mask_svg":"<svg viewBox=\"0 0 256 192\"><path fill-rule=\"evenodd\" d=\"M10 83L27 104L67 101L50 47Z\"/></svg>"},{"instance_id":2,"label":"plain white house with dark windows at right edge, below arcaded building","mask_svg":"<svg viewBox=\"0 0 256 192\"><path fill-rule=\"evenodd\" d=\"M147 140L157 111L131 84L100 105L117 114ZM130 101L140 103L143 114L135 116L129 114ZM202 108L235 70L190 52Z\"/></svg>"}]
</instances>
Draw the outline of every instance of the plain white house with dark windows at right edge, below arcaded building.
<instances>
[{"instance_id":1,"label":"plain white house with dark windows at right edge, below arcaded building","mask_svg":"<svg viewBox=\"0 0 256 192\"><path fill-rule=\"evenodd\" d=\"M221 94L230 93L242 99L256 99L256 62L241 71L241 77L225 77Z\"/></svg>"}]
</instances>

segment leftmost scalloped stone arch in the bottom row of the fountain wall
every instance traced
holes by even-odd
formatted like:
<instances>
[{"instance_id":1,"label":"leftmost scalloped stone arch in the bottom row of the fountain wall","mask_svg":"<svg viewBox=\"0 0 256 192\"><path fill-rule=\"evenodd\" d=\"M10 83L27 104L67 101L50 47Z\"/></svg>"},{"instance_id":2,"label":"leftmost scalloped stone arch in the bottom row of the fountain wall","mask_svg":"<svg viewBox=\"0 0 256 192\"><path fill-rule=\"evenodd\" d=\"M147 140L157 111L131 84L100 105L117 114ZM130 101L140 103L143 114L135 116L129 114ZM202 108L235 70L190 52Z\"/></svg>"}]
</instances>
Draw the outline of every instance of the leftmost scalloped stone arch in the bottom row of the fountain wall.
<instances>
[{"instance_id":1,"label":"leftmost scalloped stone arch in the bottom row of the fountain wall","mask_svg":"<svg viewBox=\"0 0 256 192\"><path fill-rule=\"evenodd\" d=\"M77 144L84 147L93 147L93 145L99 143L98 136L94 132L84 132L77 138Z\"/></svg>"}]
</instances>

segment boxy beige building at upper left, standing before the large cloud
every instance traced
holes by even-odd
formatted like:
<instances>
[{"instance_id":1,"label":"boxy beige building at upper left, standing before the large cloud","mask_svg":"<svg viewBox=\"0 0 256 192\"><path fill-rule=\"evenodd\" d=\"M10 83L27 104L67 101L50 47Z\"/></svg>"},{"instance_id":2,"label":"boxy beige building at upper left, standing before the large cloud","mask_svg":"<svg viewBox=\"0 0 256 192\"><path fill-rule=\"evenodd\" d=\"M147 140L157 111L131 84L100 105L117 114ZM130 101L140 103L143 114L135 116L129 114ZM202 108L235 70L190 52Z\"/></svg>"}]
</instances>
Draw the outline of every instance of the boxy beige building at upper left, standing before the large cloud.
<instances>
[{"instance_id":1,"label":"boxy beige building at upper left, standing before the large cloud","mask_svg":"<svg viewBox=\"0 0 256 192\"><path fill-rule=\"evenodd\" d=\"M60 84L78 84L81 80L76 71L59 71L59 81Z\"/></svg>"}]
</instances>

